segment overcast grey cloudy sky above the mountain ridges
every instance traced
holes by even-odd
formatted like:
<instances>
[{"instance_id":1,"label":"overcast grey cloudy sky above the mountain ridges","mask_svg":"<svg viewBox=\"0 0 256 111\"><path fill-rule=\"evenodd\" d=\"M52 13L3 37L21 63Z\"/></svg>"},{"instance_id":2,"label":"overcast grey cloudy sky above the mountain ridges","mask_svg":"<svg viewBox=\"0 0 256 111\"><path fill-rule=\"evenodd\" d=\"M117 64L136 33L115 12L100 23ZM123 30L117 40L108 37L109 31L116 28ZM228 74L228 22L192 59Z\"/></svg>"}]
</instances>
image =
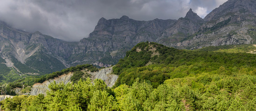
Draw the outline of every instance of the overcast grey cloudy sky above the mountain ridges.
<instances>
[{"instance_id":1,"label":"overcast grey cloudy sky above the mountain ridges","mask_svg":"<svg viewBox=\"0 0 256 111\"><path fill-rule=\"evenodd\" d=\"M204 18L227 0L0 0L0 20L65 41L88 37L98 19L179 19L192 8Z\"/></svg>"}]
</instances>

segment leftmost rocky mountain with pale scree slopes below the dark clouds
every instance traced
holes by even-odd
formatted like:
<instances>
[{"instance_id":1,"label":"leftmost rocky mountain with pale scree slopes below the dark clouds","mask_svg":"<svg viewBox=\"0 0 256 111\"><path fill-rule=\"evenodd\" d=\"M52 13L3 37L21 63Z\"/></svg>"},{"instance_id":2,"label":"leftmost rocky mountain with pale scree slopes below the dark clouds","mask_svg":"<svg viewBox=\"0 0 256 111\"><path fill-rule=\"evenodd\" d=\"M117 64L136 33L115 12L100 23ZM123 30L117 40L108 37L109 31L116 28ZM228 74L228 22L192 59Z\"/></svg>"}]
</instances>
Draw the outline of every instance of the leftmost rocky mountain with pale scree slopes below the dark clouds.
<instances>
[{"instance_id":1,"label":"leftmost rocky mountain with pale scree slopes below the dark clouds","mask_svg":"<svg viewBox=\"0 0 256 111\"><path fill-rule=\"evenodd\" d=\"M55 56L63 51L65 45L67 44L61 40L40 32L16 30L1 22L0 56L7 67L15 68L19 72L45 74L65 68L63 58Z\"/></svg>"}]
</instances>

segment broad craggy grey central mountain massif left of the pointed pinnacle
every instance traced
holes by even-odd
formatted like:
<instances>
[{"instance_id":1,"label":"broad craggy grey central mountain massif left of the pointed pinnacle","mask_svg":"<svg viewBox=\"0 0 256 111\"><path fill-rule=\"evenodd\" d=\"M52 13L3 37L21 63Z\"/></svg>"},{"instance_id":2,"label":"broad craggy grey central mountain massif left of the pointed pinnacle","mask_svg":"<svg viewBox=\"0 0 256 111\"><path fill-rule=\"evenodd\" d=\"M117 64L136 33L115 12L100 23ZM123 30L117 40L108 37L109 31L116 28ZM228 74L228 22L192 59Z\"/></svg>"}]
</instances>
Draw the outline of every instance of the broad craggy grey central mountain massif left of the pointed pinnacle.
<instances>
[{"instance_id":1,"label":"broad craggy grey central mountain massif left of the pointed pinnacle","mask_svg":"<svg viewBox=\"0 0 256 111\"><path fill-rule=\"evenodd\" d=\"M89 37L79 42L78 49L82 49L83 52L72 56L71 61L115 64L137 43L158 39L161 32L173 25L175 21L171 19L137 21L127 16L110 20L101 18ZM83 58L83 61L77 60L78 55Z\"/></svg>"}]
</instances>

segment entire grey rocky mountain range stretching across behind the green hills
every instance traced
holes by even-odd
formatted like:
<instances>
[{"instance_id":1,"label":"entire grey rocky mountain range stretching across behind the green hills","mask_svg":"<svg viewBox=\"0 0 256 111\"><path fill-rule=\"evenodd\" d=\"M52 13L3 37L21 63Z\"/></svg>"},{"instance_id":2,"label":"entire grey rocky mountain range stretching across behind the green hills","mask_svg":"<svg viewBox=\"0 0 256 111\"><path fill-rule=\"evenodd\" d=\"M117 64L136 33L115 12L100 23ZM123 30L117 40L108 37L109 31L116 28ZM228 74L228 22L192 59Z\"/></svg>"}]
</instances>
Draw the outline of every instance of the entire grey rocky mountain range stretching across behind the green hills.
<instances>
[{"instance_id":1,"label":"entire grey rocky mountain range stretching across behind the green hills","mask_svg":"<svg viewBox=\"0 0 256 111\"><path fill-rule=\"evenodd\" d=\"M109 67L137 43L156 42L177 49L256 43L256 1L228 0L204 19L190 9L184 18L138 21L99 19L89 37L66 42L0 22L0 72L47 74L77 64Z\"/></svg>"}]
</instances>

